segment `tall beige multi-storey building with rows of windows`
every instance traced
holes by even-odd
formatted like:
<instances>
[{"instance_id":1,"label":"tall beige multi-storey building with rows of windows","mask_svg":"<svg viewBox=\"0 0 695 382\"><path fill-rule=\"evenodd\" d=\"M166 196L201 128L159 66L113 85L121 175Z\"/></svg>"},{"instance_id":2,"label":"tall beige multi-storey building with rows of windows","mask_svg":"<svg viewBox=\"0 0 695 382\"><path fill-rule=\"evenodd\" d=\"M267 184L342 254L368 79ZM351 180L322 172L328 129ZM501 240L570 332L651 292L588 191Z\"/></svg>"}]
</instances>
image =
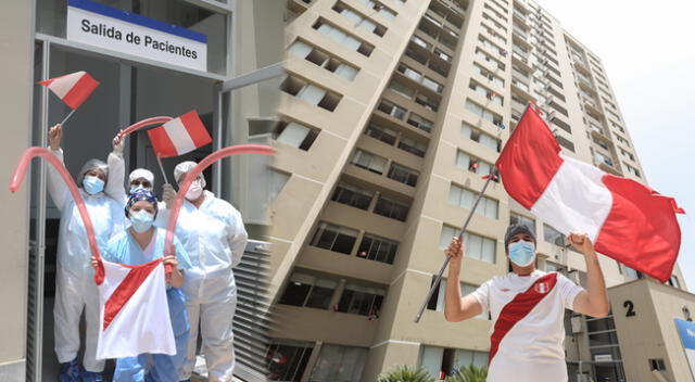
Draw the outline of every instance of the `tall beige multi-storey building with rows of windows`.
<instances>
[{"instance_id":1,"label":"tall beige multi-storey building with rows of windows","mask_svg":"<svg viewBox=\"0 0 695 382\"><path fill-rule=\"evenodd\" d=\"M270 378L374 381L396 365L435 377L486 365L490 320L446 322L444 283L413 318L527 104L543 111L565 154L646 182L601 59L526 0L287 7ZM585 282L581 254L493 182L466 232L464 293L507 271L503 235L515 221L534 228L540 269ZM642 278L601 264L608 285ZM612 345L582 330L590 322L567 314L571 380L624 380L620 357L602 361Z\"/></svg>"}]
</instances>

